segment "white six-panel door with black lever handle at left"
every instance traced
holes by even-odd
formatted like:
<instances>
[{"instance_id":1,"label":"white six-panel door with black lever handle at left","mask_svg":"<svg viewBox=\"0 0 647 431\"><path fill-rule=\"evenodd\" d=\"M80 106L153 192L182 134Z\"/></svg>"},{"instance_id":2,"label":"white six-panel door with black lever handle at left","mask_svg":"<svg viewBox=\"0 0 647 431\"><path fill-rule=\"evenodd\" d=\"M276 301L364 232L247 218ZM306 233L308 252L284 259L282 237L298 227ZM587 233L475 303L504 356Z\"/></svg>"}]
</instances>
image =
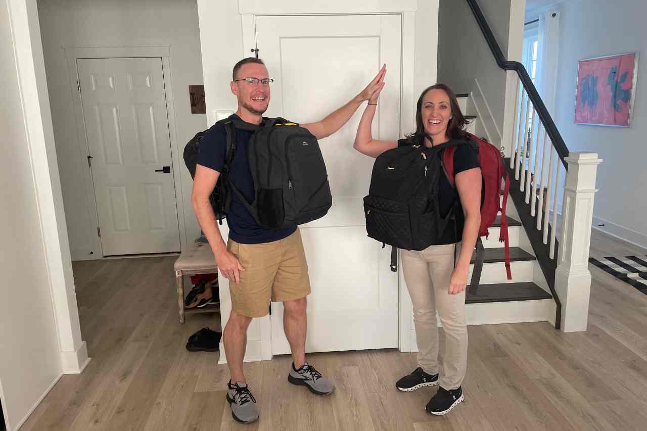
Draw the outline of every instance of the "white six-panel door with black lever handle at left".
<instances>
[{"instance_id":1,"label":"white six-panel door with black lever handle at left","mask_svg":"<svg viewBox=\"0 0 647 431\"><path fill-rule=\"evenodd\" d=\"M104 256L178 252L162 59L77 65Z\"/></svg>"}]
</instances>

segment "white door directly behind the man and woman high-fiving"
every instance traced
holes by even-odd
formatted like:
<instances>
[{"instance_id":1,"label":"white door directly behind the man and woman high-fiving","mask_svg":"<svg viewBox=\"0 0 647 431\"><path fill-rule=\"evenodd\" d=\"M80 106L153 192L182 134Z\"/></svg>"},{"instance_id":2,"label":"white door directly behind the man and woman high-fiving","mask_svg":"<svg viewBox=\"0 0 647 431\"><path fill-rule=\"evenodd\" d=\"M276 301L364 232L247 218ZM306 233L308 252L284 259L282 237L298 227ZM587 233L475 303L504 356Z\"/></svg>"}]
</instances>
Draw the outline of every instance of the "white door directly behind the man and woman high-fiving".
<instances>
[{"instance_id":1,"label":"white door directly behind the man and woman high-fiving","mask_svg":"<svg viewBox=\"0 0 647 431\"><path fill-rule=\"evenodd\" d=\"M359 93L386 63L373 137L397 139L400 23L400 15L256 17L259 56L275 80L265 115L320 120ZM398 346L398 277L389 269L390 249L366 236L362 198L373 159L353 149L363 109L321 140L333 207L301 227L312 284L309 352ZM271 322L272 353L289 353L282 304L272 304Z\"/></svg>"}]
</instances>

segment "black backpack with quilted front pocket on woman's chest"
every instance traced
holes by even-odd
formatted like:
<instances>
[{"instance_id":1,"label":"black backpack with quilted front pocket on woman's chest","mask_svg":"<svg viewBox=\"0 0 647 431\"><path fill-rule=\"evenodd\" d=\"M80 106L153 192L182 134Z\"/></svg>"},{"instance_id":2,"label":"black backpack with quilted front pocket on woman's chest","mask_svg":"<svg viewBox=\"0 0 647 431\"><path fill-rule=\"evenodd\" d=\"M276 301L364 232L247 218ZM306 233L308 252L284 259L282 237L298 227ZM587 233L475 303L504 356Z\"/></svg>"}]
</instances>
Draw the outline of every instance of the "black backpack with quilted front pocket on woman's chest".
<instances>
[{"instance_id":1,"label":"black backpack with quilted front pocket on woman's chest","mask_svg":"<svg viewBox=\"0 0 647 431\"><path fill-rule=\"evenodd\" d=\"M397 271L397 249L424 250L444 233L453 210L444 218L439 214L438 180L444 173L438 152L457 144L403 146L375 159L369 194L364 197L366 231L370 238L392 246L392 271Z\"/></svg>"}]
</instances>

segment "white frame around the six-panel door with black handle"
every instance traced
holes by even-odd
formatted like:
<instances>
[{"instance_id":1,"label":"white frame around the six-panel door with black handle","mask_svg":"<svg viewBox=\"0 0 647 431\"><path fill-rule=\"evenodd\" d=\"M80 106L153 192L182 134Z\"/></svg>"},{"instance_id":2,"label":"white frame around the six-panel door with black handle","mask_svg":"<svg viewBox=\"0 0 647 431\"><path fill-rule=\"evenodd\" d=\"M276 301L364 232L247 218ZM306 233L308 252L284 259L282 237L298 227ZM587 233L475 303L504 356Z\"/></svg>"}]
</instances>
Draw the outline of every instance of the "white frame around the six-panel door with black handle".
<instances>
[{"instance_id":1,"label":"white frame around the six-panel door with black handle","mask_svg":"<svg viewBox=\"0 0 647 431\"><path fill-rule=\"evenodd\" d=\"M171 87L171 47L170 45L150 47L63 47L67 60L67 71L70 77L70 89L72 93L72 104L74 105L74 120L76 121L76 135L78 137L78 154L84 155L78 162L83 166L83 188L85 190L85 207L87 208L91 228L88 235L91 238L90 245L94 250L90 260L104 258L100 238L96 232L99 226L98 214L96 212L96 199L94 197L94 183L92 170L87 163L89 146L85 133L85 119L83 118L83 104L81 94L78 91L79 80L76 60L79 58L141 58L152 57L162 59L162 71L164 73L164 91L166 93L166 113L168 116L168 129L171 142L171 159L173 161L173 180L175 185L175 206L177 208L177 222L180 231L180 250L186 247L186 231L184 229L184 195L182 194L181 165L182 149L177 144L177 127L175 123L175 109L173 104L173 89Z\"/></svg>"}]
</instances>

